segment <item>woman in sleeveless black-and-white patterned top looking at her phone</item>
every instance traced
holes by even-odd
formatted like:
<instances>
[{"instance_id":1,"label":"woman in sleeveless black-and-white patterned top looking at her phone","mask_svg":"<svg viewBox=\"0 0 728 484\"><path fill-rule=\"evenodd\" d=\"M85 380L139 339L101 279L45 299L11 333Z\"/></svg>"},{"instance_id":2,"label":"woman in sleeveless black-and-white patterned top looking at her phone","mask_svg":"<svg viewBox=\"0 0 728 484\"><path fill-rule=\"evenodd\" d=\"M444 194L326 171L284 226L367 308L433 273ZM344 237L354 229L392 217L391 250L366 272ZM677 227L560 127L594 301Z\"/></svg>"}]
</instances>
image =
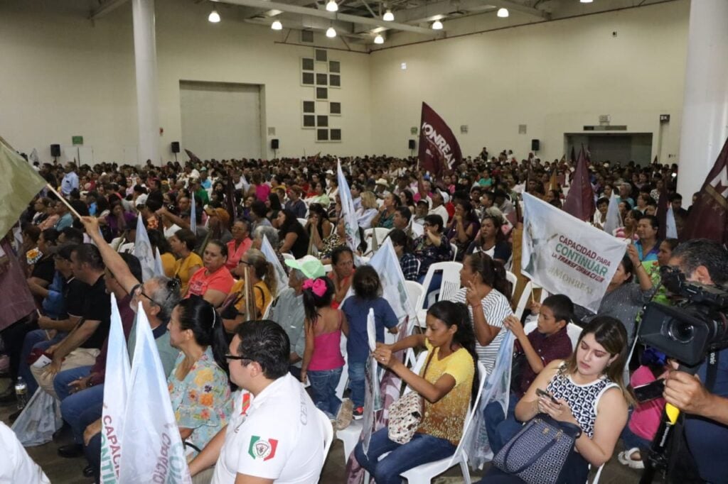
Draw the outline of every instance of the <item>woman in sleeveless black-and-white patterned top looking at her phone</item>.
<instances>
[{"instance_id":1,"label":"woman in sleeveless black-and-white patterned top looking at her phone","mask_svg":"<svg viewBox=\"0 0 728 484\"><path fill-rule=\"evenodd\" d=\"M627 332L619 320L594 318L579 336L567 360L554 360L537 376L515 407L515 417L528 422L548 414L582 429L558 477L560 484L585 483L589 464L599 467L612 458L632 401L622 374L627 360ZM558 401L538 396L545 390ZM491 467L481 483L520 483L518 476Z\"/></svg>"}]
</instances>

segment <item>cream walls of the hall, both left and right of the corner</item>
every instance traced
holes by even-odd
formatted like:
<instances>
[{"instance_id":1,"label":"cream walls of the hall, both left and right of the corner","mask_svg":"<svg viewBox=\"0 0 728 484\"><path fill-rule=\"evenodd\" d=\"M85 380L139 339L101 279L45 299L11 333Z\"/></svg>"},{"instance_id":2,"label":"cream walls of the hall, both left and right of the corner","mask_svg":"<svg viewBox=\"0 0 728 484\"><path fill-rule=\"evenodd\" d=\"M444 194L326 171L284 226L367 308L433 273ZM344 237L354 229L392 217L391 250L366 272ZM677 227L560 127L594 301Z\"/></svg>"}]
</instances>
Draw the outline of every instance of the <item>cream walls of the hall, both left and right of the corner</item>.
<instances>
[{"instance_id":1,"label":"cream walls of the hall, both left and right of the corner","mask_svg":"<svg viewBox=\"0 0 728 484\"><path fill-rule=\"evenodd\" d=\"M0 2L0 136L15 148L70 145L84 136L97 161L124 159L137 142L131 8L129 4L92 23L90 0ZM563 154L563 134L598 124L630 132L653 132L653 154L663 127L661 161L678 153L689 1L524 25L454 39L427 41L371 55L329 50L342 62L342 88L331 99L344 115L331 118L343 142L314 142L301 129L301 100L312 88L299 81L300 58L312 47L276 43L274 32L237 19L221 7L223 21L207 22L210 4L157 0L157 62L162 156L181 141L181 80L264 86L264 126L280 139L280 156L334 153L409 154L411 126L421 102L438 111L459 137L464 154L511 148L525 155L531 139L545 158ZM493 15L491 15L493 17ZM469 25L486 16L461 20ZM456 21L455 21L456 22ZM449 23L448 23L449 24ZM472 26L472 25L471 25ZM476 25L477 26L477 25ZM449 27L448 27L449 28ZM612 32L617 36L613 37ZM397 36L404 41L406 36ZM298 41L298 32L289 41ZM343 48L340 39L317 38L319 47ZM387 44L385 44L385 47ZM352 47L361 49L361 47ZM400 63L408 69L401 70ZM469 127L459 134L459 126ZM526 134L518 134L526 124Z\"/></svg>"}]
</instances>

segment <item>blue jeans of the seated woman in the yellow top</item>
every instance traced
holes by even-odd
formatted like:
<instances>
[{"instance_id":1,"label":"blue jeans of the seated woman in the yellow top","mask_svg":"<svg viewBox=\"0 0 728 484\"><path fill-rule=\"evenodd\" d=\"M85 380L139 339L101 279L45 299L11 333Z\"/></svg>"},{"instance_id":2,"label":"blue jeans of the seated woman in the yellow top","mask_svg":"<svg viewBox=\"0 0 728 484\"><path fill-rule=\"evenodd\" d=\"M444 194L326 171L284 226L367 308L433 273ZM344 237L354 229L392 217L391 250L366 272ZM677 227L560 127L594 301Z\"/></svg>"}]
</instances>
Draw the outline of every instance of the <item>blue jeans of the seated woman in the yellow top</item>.
<instances>
[{"instance_id":1,"label":"blue jeans of the seated woman in the yellow top","mask_svg":"<svg viewBox=\"0 0 728 484\"><path fill-rule=\"evenodd\" d=\"M384 459L379 457L389 452ZM376 484L401 484L402 472L427 462L445 459L455 453L455 445L449 440L427 434L415 434L408 443L392 442L387 437L387 429L380 429L371 435L369 452L364 453L362 443L357 443L354 455Z\"/></svg>"}]
</instances>

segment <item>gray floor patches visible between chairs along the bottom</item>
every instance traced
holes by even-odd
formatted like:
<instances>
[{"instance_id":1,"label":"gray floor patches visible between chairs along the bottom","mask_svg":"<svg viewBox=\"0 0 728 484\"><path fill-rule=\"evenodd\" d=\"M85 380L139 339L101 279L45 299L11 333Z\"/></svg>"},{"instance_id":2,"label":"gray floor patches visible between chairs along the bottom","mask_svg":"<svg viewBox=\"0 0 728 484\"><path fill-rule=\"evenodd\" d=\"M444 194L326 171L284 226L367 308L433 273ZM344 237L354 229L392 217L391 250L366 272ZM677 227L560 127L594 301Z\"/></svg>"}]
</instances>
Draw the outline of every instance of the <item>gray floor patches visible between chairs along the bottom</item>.
<instances>
[{"instance_id":1,"label":"gray floor patches visible between chairs along the bottom","mask_svg":"<svg viewBox=\"0 0 728 484\"><path fill-rule=\"evenodd\" d=\"M0 392L3 392L9 381L0 379ZM15 411L15 406L0 406L0 420L8 423L8 416ZM43 468L46 475L53 484L90 484L92 479L86 479L82 475L82 470L86 466L83 458L79 459L63 459L58 456L56 449L59 445L69 443L63 441L59 443L47 443L38 447L28 448L28 454ZM618 449L621 450L621 449ZM334 440L331 445L331 452L321 475L321 483L339 484L346 483L346 465L344 464L344 447L339 440ZM472 479L477 482L483 471L471 472ZM600 483L604 484L627 484L637 483L639 481L639 472L628 469L617 462L616 456L606 464L604 472L602 472ZM437 484L455 484L462 483L463 478L459 469L454 468L444 475L441 475L434 481ZM18 483L20 484L20 483Z\"/></svg>"}]
</instances>

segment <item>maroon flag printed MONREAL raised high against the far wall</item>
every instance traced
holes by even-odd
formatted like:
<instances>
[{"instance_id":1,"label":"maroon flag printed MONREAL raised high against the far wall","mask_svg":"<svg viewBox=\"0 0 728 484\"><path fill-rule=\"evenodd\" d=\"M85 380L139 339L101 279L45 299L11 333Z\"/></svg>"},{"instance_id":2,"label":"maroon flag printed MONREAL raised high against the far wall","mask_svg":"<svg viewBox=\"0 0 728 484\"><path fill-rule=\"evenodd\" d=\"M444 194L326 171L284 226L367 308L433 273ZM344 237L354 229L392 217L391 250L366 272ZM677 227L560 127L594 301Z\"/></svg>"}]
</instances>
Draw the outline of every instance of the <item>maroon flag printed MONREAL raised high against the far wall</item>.
<instances>
[{"instance_id":1,"label":"maroon flag printed MONREAL raised high against the far wall","mask_svg":"<svg viewBox=\"0 0 728 484\"><path fill-rule=\"evenodd\" d=\"M419 163L435 180L462 161L460 145L455 135L427 103L422 103L422 121L419 130Z\"/></svg>"}]
</instances>

